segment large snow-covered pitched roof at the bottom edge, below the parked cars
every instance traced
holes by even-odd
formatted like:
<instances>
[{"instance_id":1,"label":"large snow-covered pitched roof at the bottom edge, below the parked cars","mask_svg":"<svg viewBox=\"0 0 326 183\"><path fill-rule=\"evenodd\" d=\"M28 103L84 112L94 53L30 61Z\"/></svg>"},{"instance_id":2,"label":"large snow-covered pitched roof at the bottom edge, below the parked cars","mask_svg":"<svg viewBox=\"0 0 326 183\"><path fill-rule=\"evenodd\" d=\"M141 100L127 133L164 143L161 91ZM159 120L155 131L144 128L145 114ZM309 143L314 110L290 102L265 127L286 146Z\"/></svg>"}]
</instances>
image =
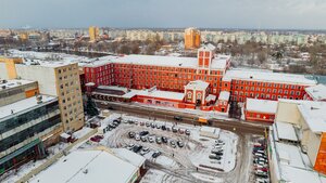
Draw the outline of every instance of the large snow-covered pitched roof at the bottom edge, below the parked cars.
<instances>
[{"instance_id":1,"label":"large snow-covered pitched roof at the bottom edge, below the parked cars","mask_svg":"<svg viewBox=\"0 0 326 183\"><path fill-rule=\"evenodd\" d=\"M30 183L128 183L138 167L106 151L74 151L36 174Z\"/></svg>"}]
</instances>

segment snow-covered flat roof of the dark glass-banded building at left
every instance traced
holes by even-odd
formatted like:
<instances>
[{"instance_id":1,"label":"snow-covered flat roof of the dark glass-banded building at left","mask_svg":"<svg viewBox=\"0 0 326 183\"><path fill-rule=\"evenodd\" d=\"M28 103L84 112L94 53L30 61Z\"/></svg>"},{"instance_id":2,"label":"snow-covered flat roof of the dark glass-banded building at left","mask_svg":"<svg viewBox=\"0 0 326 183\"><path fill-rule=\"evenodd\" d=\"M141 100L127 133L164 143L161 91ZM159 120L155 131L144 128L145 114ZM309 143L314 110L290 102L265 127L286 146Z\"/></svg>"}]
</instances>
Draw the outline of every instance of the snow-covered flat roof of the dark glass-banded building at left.
<instances>
[{"instance_id":1,"label":"snow-covered flat roof of the dark glass-banded building at left","mask_svg":"<svg viewBox=\"0 0 326 183\"><path fill-rule=\"evenodd\" d=\"M41 104L37 104L36 96L32 96L32 97L21 100L18 102L15 102L15 103L4 105L4 106L0 107L0 119L4 118L4 117L8 117L12 114L16 114L16 113L21 113L23 110L32 109L33 107L35 107L37 105L42 105L43 103L47 103L49 101L57 100L57 97L49 96L49 95L41 95L41 96L42 96L42 103Z\"/></svg>"}]
</instances>

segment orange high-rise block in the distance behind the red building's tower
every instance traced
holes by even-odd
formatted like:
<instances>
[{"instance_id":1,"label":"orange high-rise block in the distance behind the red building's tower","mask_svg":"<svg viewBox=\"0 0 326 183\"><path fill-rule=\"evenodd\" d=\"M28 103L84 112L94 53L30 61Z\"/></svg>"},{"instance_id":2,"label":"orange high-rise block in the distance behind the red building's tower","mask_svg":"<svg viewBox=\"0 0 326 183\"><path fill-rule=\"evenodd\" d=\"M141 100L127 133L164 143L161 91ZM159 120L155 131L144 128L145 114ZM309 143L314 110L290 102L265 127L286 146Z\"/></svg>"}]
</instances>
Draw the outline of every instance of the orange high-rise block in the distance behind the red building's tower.
<instances>
[{"instance_id":1,"label":"orange high-rise block in the distance behind the red building's tower","mask_svg":"<svg viewBox=\"0 0 326 183\"><path fill-rule=\"evenodd\" d=\"M200 31L193 27L185 30L185 49L198 49L200 47Z\"/></svg>"}]
</instances>

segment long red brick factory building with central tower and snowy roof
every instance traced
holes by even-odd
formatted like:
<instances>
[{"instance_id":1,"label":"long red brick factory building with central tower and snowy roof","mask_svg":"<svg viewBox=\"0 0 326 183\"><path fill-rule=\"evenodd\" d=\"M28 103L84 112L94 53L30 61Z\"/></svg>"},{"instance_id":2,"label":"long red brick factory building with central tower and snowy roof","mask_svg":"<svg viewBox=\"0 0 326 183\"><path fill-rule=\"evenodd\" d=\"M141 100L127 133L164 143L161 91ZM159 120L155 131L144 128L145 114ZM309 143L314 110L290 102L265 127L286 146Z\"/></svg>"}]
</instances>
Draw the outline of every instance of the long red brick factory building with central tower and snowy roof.
<instances>
[{"instance_id":1,"label":"long red brick factory building with central tower and snowy roof","mask_svg":"<svg viewBox=\"0 0 326 183\"><path fill-rule=\"evenodd\" d=\"M151 89L185 94L189 108L227 112L229 102L246 99L302 100L305 88L314 80L302 75L262 70L229 69L230 56L216 55L211 44L198 50L198 57L125 55L104 56L84 63L85 82L118 86L127 89ZM190 86L197 86L191 89ZM221 100L221 92L228 92Z\"/></svg>"}]
</instances>

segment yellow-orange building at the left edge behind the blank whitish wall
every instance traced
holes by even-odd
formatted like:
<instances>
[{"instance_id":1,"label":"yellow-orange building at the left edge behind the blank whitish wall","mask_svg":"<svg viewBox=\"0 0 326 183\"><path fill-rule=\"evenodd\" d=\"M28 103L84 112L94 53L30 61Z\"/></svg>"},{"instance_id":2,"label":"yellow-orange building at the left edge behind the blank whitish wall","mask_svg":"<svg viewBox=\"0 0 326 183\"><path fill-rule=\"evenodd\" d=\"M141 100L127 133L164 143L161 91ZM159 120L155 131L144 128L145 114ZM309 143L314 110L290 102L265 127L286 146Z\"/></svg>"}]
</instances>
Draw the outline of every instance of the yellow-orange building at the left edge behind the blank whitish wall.
<instances>
[{"instance_id":1,"label":"yellow-orange building at the left edge behind the blank whitish wall","mask_svg":"<svg viewBox=\"0 0 326 183\"><path fill-rule=\"evenodd\" d=\"M23 63L20 57L0 57L0 78L1 79L15 79L17 73L15 64Z\"/></svg>"}]
</instances>

